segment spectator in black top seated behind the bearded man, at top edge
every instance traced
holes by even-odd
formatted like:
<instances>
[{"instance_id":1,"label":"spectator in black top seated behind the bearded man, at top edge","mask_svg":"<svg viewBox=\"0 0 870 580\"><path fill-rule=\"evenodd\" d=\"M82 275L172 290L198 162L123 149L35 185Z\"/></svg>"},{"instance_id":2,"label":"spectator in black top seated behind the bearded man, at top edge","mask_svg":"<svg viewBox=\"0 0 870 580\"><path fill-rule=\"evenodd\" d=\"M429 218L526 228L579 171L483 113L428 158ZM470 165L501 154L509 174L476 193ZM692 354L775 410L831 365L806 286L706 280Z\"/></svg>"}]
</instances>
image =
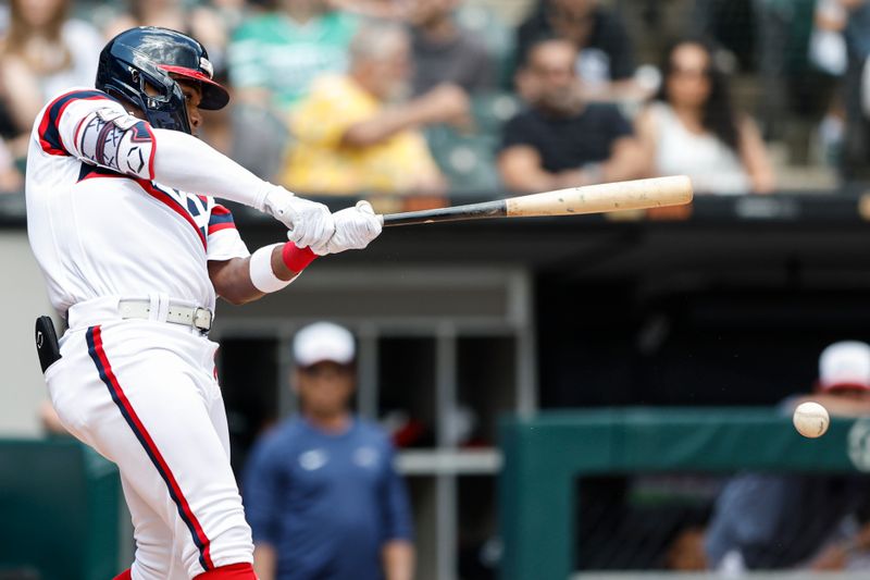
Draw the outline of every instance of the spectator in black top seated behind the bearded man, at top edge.
<instances>
[{"instance_id":1,"label":"spectator in black top seated behind the bearded man, at top edge","mask_svg":"<svg viewBox=\"0 0 870 580\"><path fill-rule=\"evenodd\" d=\"M552 37L576 47L576 72L587 99L643 97L644 90L633 79L633 45L625 25L598 0L538 0L534 13L518 29L517 62L525 62L536 42ZM522 84L518 90L526 96Z\"/></svg>"}]
</instances>

